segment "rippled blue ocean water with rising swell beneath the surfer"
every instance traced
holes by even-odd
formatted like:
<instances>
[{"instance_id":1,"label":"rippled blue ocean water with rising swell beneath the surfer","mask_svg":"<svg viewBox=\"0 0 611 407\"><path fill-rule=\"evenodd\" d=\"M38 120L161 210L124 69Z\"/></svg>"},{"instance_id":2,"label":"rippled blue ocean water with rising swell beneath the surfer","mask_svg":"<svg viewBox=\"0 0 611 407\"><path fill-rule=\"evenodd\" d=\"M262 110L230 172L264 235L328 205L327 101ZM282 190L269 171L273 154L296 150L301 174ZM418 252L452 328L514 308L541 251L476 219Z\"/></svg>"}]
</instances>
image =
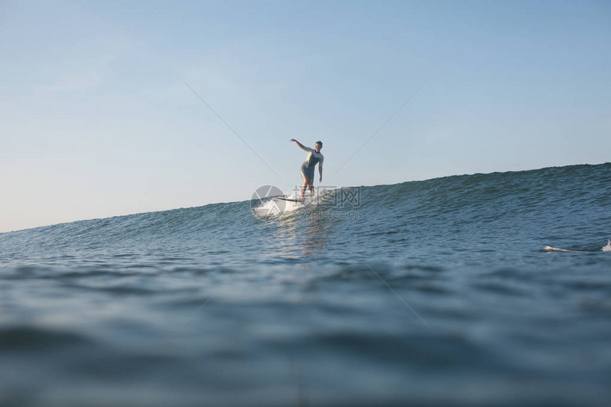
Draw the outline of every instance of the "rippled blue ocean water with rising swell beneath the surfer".
<instances>
[{"instance_id":1,"label":"rippled blue ocean water with rising swell beneath the surfer","mask_svg":"<svg viewBox=\"0 0 611 407\"><path fill-rule=\"evenodd\" d=\"M611 164L0 234L3 406L598 406ZM603 402L604 401L604 402Z\"/></svg>"}]
</instances>

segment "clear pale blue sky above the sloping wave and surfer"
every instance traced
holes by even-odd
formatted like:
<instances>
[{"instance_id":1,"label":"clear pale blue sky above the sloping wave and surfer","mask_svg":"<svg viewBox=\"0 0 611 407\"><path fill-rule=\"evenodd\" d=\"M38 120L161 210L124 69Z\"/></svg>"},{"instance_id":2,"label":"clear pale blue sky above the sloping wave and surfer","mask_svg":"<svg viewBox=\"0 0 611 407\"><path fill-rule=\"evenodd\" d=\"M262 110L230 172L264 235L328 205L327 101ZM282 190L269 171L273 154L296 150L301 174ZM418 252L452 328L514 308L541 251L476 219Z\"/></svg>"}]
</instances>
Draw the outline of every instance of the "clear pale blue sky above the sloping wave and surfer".
<instances>
[{"instance_id":1,"label":"clear pale blue sky above the sloping wave and surfer","mask_svg":"<svg viewBox=\"0 0 611 407\"><path fill-rule=\"evenodd\" d=\"M288 192L289 139L323 141L328 187L609 162L610 21L609 1L0 0L0 232Z\"/></svg>"}]
</instances>

